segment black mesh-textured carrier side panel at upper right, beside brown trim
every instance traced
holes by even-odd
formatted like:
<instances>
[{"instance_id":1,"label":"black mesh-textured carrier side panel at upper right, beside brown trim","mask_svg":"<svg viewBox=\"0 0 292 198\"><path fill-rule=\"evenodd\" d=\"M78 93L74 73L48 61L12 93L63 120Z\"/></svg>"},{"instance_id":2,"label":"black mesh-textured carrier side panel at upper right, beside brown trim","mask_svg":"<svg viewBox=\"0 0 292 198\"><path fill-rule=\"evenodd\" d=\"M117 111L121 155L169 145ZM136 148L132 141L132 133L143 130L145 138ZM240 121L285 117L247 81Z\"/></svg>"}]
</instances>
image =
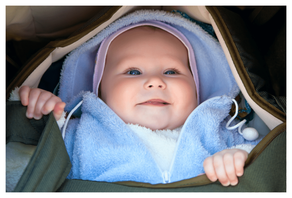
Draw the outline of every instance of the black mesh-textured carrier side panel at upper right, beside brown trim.
<instances>
[{"instance_id":1,"label":"black mesh-textured carrier side panel at upper right, beside brown trim","mask_svg":"<svg viewBox=\"0 0 292 198\"><path fill-rule=\"evenodd\" d=\"M276 10L279 10L274 9L273 6L271 7L272 8L270 9L270 11L265 10L266 13L265 15L269 15L269 17L273 15L276 12ZM268 73L268 68L265 65L265 62L263 60L262 54L260 53L260 50L258 49L258 46L254 42L250 33L248 32L248 28L246 27L244 20L240 15L222 6L216 6L216 8L218 9L221 17L223 18L230 32L233 42L236 45L238 53L241 57L241 61L244 64L246 72L248 73L256 92L264 100L272 104L274 107L285 112L286 106L285 107L282 106L283 108L285 108L282 109L282 107L278 105L275 98L271 96L271 94L269 93L271 79ZM286 55L283 58L286 59Z\"/></svg>"}]
</instances>

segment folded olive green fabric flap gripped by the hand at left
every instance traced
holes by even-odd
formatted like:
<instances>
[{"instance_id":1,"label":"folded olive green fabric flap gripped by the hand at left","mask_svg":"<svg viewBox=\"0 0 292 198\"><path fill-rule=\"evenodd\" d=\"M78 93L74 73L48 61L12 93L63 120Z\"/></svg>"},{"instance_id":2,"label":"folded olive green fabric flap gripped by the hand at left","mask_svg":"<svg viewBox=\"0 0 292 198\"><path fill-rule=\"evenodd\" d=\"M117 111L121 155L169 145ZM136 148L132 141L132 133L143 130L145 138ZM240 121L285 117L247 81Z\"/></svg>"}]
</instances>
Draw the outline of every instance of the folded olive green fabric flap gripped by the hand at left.
<instances>
[{"instance_id":1,"label":"folded olive green fabric flap gripped by the hand at left","mask_svg":"<svg viewBox=\"0 0 292 198\"><path fill-rule=\"evenodd\" d=\"M53 114L27 119L26 108L20 101L6 102L6 143L37 144L13 192L54 192L69 174L70 159Z\"/></svg>"}]
</instances>

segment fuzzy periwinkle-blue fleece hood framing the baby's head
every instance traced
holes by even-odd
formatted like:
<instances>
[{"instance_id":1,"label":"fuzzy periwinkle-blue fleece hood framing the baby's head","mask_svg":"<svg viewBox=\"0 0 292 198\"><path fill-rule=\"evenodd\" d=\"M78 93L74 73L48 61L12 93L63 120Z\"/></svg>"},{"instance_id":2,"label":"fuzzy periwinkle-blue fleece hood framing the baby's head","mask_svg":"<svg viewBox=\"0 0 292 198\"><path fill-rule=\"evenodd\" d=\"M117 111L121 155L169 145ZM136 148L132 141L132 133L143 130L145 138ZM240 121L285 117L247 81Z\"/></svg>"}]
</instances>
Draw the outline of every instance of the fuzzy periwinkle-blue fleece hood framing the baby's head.
<instances>
[{"instance_id":1,"label":"fuzzy periwinkle-blue fleece hood framing the baby's head","mask_svg":"<svg viewBox=\"0 0 292 198\"><path fill-rule=\"evenodd\" d=\"M59 97L63 102L70 102L80 91L93 92L93 73L95 57L102 40L124 26L146 20L165 22L176 28L189 40L196 59L199 75L200 103L221 95L238 94L239 89L231 73L220 43L204 31L199 25L181 16L160 10L138 10L109 24L96 36L70 52L64 61ZM74 102L73 102L74 103ZM67 105L69 112L77 104ZM74 116L80 117L76 111Z\"/></svg>"}]
</instances>

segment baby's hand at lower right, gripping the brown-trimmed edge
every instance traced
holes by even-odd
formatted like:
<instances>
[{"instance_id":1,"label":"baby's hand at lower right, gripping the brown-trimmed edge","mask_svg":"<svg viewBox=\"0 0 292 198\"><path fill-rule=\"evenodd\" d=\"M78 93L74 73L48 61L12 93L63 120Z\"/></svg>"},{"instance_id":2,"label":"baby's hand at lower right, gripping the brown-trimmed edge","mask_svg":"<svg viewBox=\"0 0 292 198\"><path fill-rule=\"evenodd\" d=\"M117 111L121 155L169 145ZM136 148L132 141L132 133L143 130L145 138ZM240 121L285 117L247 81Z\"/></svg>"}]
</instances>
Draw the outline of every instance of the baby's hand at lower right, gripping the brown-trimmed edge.
<instances>
[{"instance_id":1,"label":"baby's hand at lower right, gripping the brown-trimmed edge","mask_svg":"<svg viewBox=\"0 0 292 198\"><path fill-rule=\"evenodd\" d=\"M215 153L204 161L206 176L211 181L218 179L224 186L236 185L237 176L243 175L247 155L248 153L241 149L225 149Z\"/></svg>"}]
</instances>

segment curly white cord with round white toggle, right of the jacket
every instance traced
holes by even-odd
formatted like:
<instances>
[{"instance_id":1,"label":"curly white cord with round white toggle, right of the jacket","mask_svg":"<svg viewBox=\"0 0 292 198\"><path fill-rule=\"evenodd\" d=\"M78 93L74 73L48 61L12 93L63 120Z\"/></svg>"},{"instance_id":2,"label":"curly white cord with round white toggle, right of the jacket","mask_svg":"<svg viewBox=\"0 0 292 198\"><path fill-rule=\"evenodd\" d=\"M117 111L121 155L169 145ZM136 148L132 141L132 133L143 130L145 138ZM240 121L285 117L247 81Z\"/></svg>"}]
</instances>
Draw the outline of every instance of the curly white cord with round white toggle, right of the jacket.
<instances>
[{"instance_id":1,"label":"curly white cord with round white toggle, right of the jacket","mask_svg":"<svg viewBox=\"0 0 292 198\"><path fill-rule=\"evenodd\" d=\"M255 128L247 127L241 132L241 127L244 125L244 123L246 123L246 119L244 119L243 121L241 121L240 123L238 123L235 126L229 127L230 123L234 120L234 118L238 114L238 104L237 104L236 100L232 99L232 101L235 103L236 111L235 111L234 116L227 122L226 128L228 130L232 130L232 129L235 129L238 127L238 132L240 135L242 135L244 137L244 139L249 140L249 141L253 141L253 140L257 139L258 138L258 131Z\"/></svg>"}]
</instances>

